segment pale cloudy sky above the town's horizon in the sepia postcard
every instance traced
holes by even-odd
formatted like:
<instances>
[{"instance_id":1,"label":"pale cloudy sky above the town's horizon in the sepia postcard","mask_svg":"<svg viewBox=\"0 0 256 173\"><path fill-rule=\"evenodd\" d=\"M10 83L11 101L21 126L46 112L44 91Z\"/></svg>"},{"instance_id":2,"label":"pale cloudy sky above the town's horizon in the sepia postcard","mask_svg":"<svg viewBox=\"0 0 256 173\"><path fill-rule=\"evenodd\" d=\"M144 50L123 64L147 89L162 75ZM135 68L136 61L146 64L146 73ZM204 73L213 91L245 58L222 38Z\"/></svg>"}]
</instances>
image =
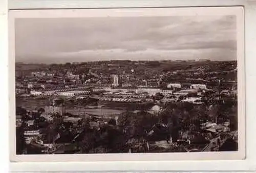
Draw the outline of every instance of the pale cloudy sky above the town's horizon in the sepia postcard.
<instances>
[{"instance_id":1,"label":"pale cloudy sky above the town's horizon in the sepia postcard","mask_svg":"<svg viewBox=\"0 0 256 173\"><path fill-rule=\"evenodd\" d=\"M17 62L235 60L235 16L23 18Z\"/></svg>"}]
</instances>

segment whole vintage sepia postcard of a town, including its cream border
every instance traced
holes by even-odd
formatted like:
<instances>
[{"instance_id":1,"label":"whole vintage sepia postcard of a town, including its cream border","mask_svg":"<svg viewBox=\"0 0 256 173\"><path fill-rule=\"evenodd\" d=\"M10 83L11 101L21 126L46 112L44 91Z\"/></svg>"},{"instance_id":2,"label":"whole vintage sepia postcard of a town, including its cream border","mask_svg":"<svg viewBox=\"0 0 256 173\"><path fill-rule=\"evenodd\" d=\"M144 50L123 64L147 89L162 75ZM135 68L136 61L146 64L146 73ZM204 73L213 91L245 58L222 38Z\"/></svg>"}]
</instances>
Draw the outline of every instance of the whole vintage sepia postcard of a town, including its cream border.
<instances>
[{"instance_id":1,"label":"whole vintage sepia postcard of a town, including its cream border","mask_svg":"<svg viewBox=\"0 0 256 173\"><path fill-rule=\"evenodd\" d=\"M245 158L242 7L13 10L12 162Z\"/></svg>"}]
</instances>

